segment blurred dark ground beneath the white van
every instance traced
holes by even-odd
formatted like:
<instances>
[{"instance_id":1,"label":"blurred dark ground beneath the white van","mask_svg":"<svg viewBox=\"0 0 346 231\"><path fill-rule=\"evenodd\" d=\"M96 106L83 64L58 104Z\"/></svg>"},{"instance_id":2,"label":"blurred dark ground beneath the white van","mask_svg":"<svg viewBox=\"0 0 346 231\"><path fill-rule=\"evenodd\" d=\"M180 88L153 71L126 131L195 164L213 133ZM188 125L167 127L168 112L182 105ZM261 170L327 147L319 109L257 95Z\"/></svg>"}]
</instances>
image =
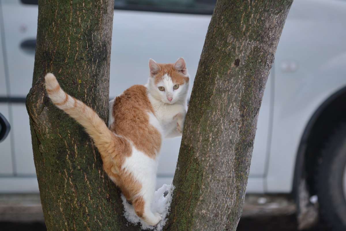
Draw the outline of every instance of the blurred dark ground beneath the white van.
<instances>
[{"instance_id":1,"label":"blurred dark ground beneath the white van","mask_svg":"<svg viewBox=\"0 0 346 231\"><path fill-rule=\"evenodd\" d=\"M44 231L39 195L0 195L1 231ZM237 231L298 231L295 205L281 195L245 199ZM306 231L329 231L322 223Z\"/></svg>"}]
</instances>

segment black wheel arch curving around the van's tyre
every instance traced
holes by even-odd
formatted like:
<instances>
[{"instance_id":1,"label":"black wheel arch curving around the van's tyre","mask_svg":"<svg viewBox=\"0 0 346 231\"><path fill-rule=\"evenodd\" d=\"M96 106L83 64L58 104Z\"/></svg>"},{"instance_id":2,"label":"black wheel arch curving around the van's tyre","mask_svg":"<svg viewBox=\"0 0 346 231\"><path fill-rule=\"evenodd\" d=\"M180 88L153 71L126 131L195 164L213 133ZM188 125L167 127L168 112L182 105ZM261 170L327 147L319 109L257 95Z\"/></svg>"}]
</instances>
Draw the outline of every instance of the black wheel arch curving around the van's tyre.
<instances>
[{"instance_id":1,"label":"black wheel arch curving around the van's tyre","mask_svg":"<svg viewBox=\"0 0 346 231\"><path fill-rule=\"evenodd\" d=\"M304 223L304 219L306 220L307 214L310 217L315 216L315 221L318 219L318 210L310 202L310 197L315 195L313 175L322 145L341 121L346 121L346 86L336 91L318 107L301 137L292 187L300 228L307 228L310 225L301 224Z\"/></svg>"}]
</instances>

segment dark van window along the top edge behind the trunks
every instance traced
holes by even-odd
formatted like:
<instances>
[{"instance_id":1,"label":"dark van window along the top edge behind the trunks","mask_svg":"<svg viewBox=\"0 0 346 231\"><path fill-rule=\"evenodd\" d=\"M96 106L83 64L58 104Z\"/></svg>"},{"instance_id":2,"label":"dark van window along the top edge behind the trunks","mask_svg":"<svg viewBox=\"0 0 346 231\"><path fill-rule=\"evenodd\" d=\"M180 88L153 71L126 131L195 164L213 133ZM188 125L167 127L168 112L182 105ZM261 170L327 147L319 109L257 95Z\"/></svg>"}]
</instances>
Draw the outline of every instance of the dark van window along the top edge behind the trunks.
<instances>
[{"instance_id":1,"label":"dark van window along the top edge behind the trunks","mask_svg":"<svg viewBox=\"0 0 346 231\"><path fill-rule=\"evenodd\" d=\"M21 0L37 5L38 0ZM115 0L114 9L211 15L216 0Z\"/></svg>"}]
</instances>

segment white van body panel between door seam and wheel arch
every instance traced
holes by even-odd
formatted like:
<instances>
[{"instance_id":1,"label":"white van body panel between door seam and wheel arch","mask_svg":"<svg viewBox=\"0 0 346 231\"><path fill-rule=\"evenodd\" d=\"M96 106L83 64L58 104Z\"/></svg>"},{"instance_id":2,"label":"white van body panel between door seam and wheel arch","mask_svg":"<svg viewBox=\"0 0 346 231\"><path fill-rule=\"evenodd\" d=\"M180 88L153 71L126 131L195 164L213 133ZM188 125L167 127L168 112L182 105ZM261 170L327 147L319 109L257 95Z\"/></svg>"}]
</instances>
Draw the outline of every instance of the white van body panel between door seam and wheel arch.
<instances>
[{"instance_id":1,"label":"white van body panel between door seam and wheel arch","mask_svg":"<svg viewBox=\"0 0 346 231\"><path fill-rule=\"evenodd\" d=\"M295 156L310 118L346 86L345 12L345 1L292 4L272 70L274 114L265 192L292 190ZM287 65L297 67L290 71Z\"/></svg>"}]
</instances>

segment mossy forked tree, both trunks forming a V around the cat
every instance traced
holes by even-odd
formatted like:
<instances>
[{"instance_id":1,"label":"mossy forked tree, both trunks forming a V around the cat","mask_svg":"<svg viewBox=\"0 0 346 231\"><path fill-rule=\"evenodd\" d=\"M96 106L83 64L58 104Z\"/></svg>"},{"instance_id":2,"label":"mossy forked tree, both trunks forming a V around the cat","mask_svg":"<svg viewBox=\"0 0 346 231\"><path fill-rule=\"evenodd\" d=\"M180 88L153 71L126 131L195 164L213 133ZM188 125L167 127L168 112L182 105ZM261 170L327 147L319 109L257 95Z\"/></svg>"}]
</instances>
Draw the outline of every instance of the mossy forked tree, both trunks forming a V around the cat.
<instances>
[{"instance_id":1,"label":"mossy forked tree, both trunks forming a V around the cat","mask_svg":"<svg viewBox=\"0 0 346 231\"><path fill-rule=\"evenodd\" d=\"M102 4L101 4L102 3ZM112 1L39 1L33 87L27 97L48 230L126 226L119 190L83 128L52 105L43 77L107 120ZM217 2L208 29L165 230L235 230L242 213L258 110L292 1Z\"/></svg>"}]
</instances>

